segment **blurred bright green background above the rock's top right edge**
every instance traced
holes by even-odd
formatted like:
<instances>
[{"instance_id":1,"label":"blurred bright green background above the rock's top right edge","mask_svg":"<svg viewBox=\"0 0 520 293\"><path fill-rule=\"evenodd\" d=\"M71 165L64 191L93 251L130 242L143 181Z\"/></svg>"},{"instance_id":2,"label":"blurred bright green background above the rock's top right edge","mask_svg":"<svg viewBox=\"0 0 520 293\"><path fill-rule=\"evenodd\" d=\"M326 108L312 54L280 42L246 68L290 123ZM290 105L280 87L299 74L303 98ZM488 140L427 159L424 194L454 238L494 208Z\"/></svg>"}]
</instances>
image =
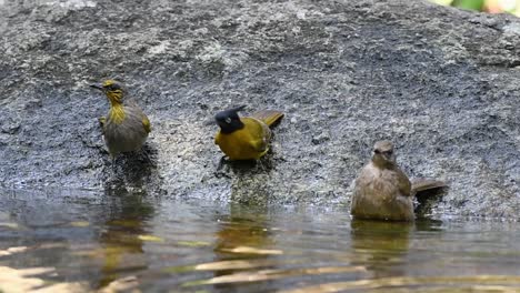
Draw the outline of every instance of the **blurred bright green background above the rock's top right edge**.
<instances>
[{"instance_id":1,"label":"blurred bright green background above the rock's top right edge","mask_svg":"<svg viewBox=\"0 0 520 293\"><path fill-rule=\"evenodd\" d=\"M452 6L490 13L512 13L520 17L520 0L431 0L438 4Z\"/></svg>"}]
</instances>

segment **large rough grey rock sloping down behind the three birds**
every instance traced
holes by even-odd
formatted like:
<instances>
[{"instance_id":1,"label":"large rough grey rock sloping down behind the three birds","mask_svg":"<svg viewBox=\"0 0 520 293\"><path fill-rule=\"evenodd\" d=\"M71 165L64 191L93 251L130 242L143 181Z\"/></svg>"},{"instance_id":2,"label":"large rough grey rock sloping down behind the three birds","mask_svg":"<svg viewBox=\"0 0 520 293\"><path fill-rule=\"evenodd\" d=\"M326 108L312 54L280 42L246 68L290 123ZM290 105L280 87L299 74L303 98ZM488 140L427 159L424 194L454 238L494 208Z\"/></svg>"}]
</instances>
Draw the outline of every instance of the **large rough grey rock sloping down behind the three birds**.
<instances>
[{"instance_id":1,"label":"large rough grey rock sloping down behind the three birds","mask_svg":"<svg viewBox=\"0 0 520 293\"><path fill-rule=\"evenodd\" d=\"M1 4L2 2L0 2ZM520 20L421 1L6 1L0 172L8 188L348 204L374 141L447 180L437 214L518 218ZM111 161L88 84L113 78L152 122ZM286 112L259 163L222 164L213 114Z\"/></svg>"}]
</instances>

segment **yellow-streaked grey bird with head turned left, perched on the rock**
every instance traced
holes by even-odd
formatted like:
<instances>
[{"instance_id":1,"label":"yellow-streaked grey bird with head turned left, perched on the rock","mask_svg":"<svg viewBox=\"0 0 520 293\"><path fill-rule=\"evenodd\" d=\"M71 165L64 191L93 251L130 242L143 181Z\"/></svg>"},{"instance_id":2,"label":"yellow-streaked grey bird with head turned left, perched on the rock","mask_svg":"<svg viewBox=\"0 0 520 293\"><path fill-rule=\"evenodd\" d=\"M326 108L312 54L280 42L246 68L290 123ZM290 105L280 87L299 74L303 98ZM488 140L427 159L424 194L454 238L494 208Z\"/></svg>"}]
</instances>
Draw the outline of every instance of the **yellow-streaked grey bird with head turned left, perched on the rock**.
<instances>
[{"instance_id":1,"label":"yellow-streaked grey bird with head turned left, perched on the rock","mask_svg":"<svg viewBox=\"0 0 520 293\"><path fill-rule=\"evenodd\" d=\"M102 91L110 102L107 117L99 119L110 155L114 158L119 153L139 151L151 131L150 120L141 108L127 99L127 91L120 82L107 80L101 85L90 87Z\"/></svg>"}]
</instances>

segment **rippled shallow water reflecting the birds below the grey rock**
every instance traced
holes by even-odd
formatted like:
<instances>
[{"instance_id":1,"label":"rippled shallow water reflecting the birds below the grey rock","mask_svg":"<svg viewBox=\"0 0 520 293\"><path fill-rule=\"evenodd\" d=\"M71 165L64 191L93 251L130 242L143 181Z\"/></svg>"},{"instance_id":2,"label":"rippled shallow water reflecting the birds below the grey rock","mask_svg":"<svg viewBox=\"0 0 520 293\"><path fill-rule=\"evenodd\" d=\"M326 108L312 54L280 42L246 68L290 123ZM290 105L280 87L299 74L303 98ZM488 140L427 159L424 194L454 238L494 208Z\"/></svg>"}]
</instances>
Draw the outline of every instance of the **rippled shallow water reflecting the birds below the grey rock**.
<instances>
[{"instance_id":1,"label":"rippled shallow water reflecting the birds below the grey rock","mask_svg":"<svg viewBox=\"0 0 520 293\"><path fill-rule=\"evenodd\" d=\"M516 292L520 226L346 209L2 191L0 291ZM31 270L28 270L31 269Z\"/></svg>"}]
</instances>

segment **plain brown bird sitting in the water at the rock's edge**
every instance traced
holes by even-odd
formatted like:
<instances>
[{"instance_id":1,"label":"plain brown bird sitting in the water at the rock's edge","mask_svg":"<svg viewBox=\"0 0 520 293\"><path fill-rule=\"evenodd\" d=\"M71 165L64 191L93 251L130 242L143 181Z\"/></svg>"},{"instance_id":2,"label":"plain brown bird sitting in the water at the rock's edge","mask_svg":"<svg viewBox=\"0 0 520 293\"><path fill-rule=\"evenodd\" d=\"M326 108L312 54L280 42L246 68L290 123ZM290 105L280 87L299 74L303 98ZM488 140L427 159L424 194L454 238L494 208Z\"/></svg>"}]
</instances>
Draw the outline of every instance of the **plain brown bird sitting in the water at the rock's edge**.
<instances>
[{"instance_id":1,"label":"plain brown bird sitting in the water at the rock's edge","mask_svg":"<svg viewBox=\"0 0 520 293\"><path fill-rule=\"evenodd\" d=\"M411 222L416 193L446 186L438 180L412 184L396 162L392 142L378 141L371 161L354 181L350 213L354 219Z\"/></svg>"}]
</instances>

